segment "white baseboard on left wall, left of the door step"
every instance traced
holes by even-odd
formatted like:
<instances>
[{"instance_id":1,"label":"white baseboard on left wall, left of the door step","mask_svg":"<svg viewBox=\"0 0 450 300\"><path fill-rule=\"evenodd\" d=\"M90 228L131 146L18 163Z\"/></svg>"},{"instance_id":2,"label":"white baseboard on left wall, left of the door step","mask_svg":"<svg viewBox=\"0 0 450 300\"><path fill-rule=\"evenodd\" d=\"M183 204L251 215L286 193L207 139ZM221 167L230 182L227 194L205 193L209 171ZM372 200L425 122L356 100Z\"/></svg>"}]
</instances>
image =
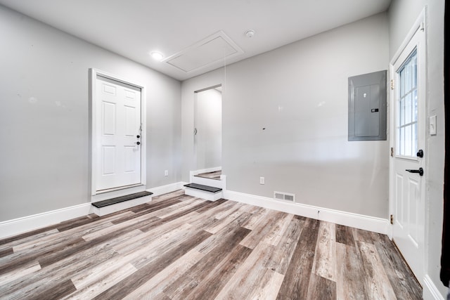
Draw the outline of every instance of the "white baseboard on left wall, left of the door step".
<instances>
[{"instance_id":1,"label":"white baseboard on left wall, left of the door step","mask_svg":"<svg viewBox=\"0 0 450 300\"><path fill-rule=\"evenodd\" d=\"M30 230L36 230L42 227L50 226L62 221L87 216L93 212L91 202L46 211L41 214L24 216L22 218L0 222L0 238L18 235Z\"/></svg>"}]
</instances>

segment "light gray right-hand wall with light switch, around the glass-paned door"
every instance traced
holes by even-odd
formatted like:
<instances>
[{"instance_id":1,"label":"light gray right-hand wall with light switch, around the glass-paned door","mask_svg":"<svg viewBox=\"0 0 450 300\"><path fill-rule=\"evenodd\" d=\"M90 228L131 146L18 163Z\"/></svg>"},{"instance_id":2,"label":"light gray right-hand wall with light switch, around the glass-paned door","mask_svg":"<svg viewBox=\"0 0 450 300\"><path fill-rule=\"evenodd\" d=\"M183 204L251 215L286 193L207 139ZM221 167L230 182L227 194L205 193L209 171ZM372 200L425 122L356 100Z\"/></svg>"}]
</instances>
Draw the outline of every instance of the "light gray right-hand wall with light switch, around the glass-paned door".
<instances>
[{"instance_id":1,"label":"light gray right-hand wall with light switch, around the glass-paned door","mask_svg":"<svg viewBox=\"0 0 450 300\"><path fill-rule=\"evenodd\" d=\"M389 9L390 58L397 52L424 6L428 6L427 30L427 122L437 115L437 136L426 137L428 160L425 252L427 272L432 282L444 294L439 281L442 209L444 205L444 0L394 0ZM428 130L427 130L428 133Z\"/></svg>"}]
</instances>

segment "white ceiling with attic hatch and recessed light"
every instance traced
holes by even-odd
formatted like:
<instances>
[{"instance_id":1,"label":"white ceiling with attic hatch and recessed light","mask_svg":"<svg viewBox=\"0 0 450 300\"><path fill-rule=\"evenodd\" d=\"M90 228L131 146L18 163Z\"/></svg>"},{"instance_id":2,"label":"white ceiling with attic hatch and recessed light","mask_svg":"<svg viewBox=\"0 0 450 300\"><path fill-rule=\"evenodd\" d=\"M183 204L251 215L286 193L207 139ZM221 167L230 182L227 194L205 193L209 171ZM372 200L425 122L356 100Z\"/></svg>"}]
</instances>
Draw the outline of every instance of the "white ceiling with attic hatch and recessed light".
<instances>
[{"instance_id":1,"label":"white ceiling with attic hatch and recessed light","mask_svg":"<svg viewBox=\"0 0 450 300\"><path fill-rule=\"evenodd\" d=\"M390 2L0 0L15 11L179 80L387 11ZM254 37L246 37L248 30L255 30ZM218 53L222 48L224 54ZM152 51L162 53L164 59L154 60Z\"/></svg>"}]
</instances>

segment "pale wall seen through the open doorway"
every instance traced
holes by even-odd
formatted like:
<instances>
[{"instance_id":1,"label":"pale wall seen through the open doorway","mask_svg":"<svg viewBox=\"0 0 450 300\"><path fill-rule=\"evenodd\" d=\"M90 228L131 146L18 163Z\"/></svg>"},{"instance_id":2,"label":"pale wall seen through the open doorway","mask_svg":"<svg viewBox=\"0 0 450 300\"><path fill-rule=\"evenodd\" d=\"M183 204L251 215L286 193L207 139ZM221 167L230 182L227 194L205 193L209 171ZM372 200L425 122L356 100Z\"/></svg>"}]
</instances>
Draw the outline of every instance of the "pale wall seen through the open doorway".
<instances>
[{"instance_id":1,"label":"pale wall seen through the open doorway","mask_svg":"<svg viewBox=\"0 0 450 300\"><path fill-rule=\"evenodd\" d=\"M195 103L195 154L197 169L221 166L222 93L216 89L200 91Z\"/></svg>"}]
</instances>

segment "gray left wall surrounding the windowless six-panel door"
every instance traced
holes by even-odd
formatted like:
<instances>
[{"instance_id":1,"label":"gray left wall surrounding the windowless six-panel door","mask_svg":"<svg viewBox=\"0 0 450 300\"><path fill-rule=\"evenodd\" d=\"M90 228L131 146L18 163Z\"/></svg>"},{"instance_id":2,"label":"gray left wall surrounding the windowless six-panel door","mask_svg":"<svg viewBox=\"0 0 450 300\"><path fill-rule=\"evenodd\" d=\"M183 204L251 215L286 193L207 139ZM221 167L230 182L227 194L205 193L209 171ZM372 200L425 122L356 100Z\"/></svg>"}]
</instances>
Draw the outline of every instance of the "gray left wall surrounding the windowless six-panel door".
<instances>
[{"instance_id":1,"label":"gray left wall surrounding the windowless six-panel door","mask_svg":"<svg viewBox=\"0 0 450 300\"><path fill-rule=\"evenodd\" d=\"M90 202L91 67L146 86L147 188L181 179L179 81L4 6L0 41L0 221Z\"/></svg>"}]
</instances>

